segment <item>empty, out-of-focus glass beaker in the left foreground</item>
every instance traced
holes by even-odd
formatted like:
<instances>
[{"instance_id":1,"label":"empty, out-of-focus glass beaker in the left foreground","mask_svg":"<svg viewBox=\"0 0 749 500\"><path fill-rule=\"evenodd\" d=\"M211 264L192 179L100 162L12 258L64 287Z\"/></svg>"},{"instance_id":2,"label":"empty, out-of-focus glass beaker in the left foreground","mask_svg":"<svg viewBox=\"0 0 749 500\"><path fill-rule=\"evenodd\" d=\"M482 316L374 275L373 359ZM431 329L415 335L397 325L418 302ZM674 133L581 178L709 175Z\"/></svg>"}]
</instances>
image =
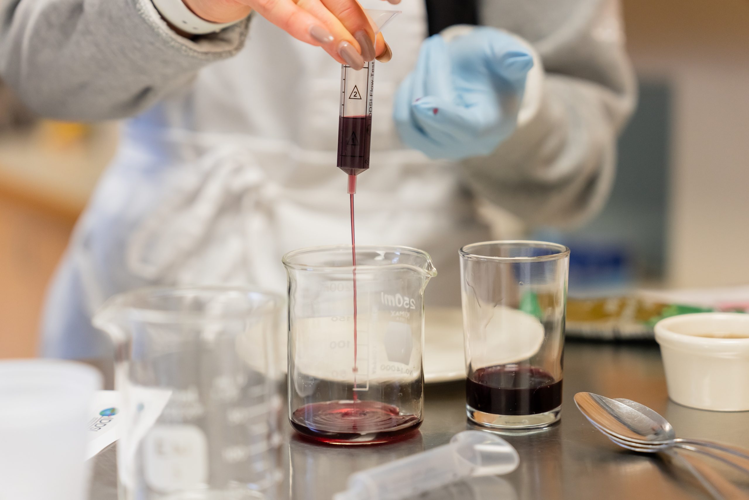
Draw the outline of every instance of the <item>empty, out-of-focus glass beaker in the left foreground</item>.
<instances>
[{"instance_id":1,"label":"empty, out-of-focus glass beaker in the left foreground","mask_svg":"<svg viewBox=\"0 0 749 500\"><path fill-rule=\"evenodd\" d=\"M273 498L282 304L252 289L155 288L97 313L115 343L127 426L121 500Z\"/></svg>"}]
</instances>

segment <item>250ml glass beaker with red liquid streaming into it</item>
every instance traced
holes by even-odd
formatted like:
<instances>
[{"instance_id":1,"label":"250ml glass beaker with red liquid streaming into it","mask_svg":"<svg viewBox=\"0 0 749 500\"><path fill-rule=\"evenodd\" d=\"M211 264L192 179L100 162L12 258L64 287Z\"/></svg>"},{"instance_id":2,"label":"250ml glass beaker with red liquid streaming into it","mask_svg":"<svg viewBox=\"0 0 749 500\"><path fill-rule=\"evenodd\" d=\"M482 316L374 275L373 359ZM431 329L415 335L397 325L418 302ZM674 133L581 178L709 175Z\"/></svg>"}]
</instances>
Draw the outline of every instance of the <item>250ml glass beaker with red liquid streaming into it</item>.
<instances>
[{"instance_id":1,"label":"250ml glass beaker with red liquid streaming into it","mask_svg":"<svg viewBox=\"0 0 749 500\"><path fill-rule=\"evenodd\" d=\"M291 426L318 441L400 439L422 422L424 289L431 258L406 247L296 250L288 272Z\"/></svg>"}]
</instances>

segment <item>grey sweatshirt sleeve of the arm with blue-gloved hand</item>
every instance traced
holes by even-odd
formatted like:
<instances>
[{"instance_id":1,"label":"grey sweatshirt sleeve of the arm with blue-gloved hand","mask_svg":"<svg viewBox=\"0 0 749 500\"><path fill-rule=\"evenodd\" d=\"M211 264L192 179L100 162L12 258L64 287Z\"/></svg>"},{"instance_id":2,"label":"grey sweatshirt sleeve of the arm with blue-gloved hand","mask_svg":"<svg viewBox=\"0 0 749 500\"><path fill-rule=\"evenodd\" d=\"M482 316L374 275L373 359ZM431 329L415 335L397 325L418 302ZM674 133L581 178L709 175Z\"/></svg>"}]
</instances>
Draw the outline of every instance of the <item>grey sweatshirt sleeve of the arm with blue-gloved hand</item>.
<instances>
[{"instance_id":1,"label":"grey sweatshirt sleeve of the arm with blue-gloved hand","mask_svg":"<svg viewBox=\"0 0 749 500\"><path fill-rule=\"evenodd\" d=\"M534 46L546 74L536 115L490 157L467 160L465 180L530 226L579 224L607 199L616 138L636 100L618 0L485 0L483 7L487 24Z\"/></svg>"}]
</instances>

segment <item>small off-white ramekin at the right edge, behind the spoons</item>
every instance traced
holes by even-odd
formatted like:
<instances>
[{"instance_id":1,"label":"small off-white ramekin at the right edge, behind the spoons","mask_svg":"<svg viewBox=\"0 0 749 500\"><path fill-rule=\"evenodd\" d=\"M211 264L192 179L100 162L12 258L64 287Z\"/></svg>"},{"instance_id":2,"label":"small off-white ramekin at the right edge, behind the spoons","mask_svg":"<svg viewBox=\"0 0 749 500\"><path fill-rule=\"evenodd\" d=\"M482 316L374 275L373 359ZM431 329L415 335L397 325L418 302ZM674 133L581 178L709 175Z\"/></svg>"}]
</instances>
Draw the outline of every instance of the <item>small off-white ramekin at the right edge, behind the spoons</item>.
<instances>
[{"instance_id":1,"label":"small off-white ramekin at the right edge, behind the spoons","mask_svg":"<svg viewBox=\"0 0 749 500\"><path fill-rule=\"evenodd\" d=\"M673 316L655 325L655 340L671 400L716 412L749 411L749 314Z\"/></svg>"}]
</instances>

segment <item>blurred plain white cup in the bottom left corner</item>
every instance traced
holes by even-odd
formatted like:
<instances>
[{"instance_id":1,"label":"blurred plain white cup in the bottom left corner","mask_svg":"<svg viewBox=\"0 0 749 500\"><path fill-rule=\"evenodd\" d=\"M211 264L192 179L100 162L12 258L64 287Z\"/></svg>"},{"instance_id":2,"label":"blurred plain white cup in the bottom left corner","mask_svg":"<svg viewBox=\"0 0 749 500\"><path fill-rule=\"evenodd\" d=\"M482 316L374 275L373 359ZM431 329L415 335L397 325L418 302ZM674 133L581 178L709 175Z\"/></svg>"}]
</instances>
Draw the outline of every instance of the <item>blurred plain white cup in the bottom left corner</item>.
<instances>
[{"instance_id":1,"label":"blurred plain white cup in the bottom left corner","mask_svg":"<svg viewBox=\"0 0 749 500\"><path fill-rule=\"evenodd\" d=\"M0 498L88 498L86 424L101 384L72 361L0 362Z\"/></svg>"}]
</instances>

